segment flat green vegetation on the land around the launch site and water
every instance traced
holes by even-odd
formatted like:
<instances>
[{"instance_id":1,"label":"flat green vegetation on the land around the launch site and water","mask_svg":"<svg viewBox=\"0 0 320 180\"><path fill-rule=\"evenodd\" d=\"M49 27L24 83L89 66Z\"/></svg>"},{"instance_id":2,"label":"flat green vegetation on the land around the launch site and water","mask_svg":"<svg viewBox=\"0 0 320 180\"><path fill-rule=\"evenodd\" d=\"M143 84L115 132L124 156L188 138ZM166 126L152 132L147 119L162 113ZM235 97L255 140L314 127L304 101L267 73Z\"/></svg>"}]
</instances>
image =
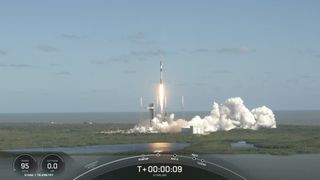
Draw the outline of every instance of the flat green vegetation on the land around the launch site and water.
<instances>
[{"instance_id":1,"label":"flat green vegetation on the land around the launch site and water","mask_svg":"<svg viewBox=\"0 0 320 180\"><path fill-rule=\"evenodd\" d=\"M276 129L231 130L209 135L101 134L131 128L132 124L0 123L0 149L27 147L86 146L100 144L186 142L177 153L320 153L320 126L280 125ZM247 141L256 148L233 148L230 142Z\"/></svg>"}]
</instances>

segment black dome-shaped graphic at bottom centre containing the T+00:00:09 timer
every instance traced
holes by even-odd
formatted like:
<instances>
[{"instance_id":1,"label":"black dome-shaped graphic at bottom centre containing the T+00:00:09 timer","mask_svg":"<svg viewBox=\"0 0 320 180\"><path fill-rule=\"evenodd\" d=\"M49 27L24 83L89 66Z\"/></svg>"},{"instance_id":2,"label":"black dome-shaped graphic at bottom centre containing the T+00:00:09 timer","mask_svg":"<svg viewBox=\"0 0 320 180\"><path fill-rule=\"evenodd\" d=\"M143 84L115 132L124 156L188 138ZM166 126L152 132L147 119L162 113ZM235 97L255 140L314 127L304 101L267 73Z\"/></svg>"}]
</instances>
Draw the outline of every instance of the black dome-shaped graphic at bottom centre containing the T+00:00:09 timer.
<instances>
[{"instance_id":1,"label":"black dome-shaped graphic at bottom centre containing the T+00:00:09 timer","mask_svg":"<svg viewBox=\"0 0 320 180\"><path fill-rule=\"evenodd\" d=\"M74 180L102 179L246 180L219 164L194 156L149 154L126 157L96 166Z\"/></svg>"}]
</instances>

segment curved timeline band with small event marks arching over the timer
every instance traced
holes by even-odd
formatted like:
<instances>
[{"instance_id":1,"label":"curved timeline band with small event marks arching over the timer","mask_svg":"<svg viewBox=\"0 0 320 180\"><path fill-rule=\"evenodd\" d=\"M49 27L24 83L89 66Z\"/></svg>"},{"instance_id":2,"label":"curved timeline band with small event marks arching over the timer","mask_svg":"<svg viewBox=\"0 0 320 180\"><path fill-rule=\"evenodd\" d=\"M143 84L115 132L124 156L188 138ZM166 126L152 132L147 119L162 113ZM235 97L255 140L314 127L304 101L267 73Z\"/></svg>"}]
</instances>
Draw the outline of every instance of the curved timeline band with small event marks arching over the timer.
<instances>
[{"instance_id":1,"label":"curved timeline band with small event marks arching over the timer","mask_svg":"<svg viewBox=\"0 0 320 180\"><path fill-rule=\"evenodd\" d=\"M175 160L172 158L175 157ZM80 175L75 177L73 180L88 180L94 179L98 176L101 176L105 173L135 165L150 164L150 163L164 163L164 164L175 164L175 165L185 165L191 166L194 168L203 169L215 174L218 174L222 177L225 177L228 180L247 180L245 177L240 174L223 167L219 164L204 161L198 158L182 156L182 155L171 155L171 154L148 154L148 155L139 155L139 156L130 156L126 158L117 159L111 162L107 162L96 166Z\"/></svg>"}]
</instances>

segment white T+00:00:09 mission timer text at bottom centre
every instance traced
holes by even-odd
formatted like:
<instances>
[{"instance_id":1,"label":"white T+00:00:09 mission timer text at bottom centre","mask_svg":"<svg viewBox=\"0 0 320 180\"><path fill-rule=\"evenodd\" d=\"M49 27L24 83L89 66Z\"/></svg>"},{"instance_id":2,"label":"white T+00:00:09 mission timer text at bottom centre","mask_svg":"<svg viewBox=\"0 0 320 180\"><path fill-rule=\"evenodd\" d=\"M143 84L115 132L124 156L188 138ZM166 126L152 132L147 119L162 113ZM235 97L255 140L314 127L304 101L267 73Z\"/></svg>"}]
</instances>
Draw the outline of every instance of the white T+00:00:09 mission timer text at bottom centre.
<instances>
[{"instance_id":1,"label":"white T+00:00:09 mission timer text at bottom centre","mask_svg":"<svg viewBox=\"0 0 320 180\"><path fill-rule=\"evenodd\" d=\"M138 173L182 173L183 167L178 165L137 166Z\"/></svg>"}]
</instances>

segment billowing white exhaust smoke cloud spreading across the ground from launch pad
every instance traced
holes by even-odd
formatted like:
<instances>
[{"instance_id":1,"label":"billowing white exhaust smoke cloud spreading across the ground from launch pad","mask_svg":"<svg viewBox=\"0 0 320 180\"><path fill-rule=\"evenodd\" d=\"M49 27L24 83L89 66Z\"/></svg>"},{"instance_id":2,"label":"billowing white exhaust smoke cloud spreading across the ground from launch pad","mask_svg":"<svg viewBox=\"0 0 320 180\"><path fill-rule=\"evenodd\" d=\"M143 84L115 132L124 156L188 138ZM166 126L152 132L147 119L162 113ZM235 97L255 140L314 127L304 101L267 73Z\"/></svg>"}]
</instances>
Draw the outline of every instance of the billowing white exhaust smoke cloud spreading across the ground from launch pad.
<instances>
[{"instance_id":1,"label":"billowing white exhaust smoke cloud spreading across the ground from launch pad","mask_svg":"<svg viewBox=\"0 0 320 180\"><path fill-rule=\"evenodd\" d=\"M252 109L243 104L240 97L227 99L223 104L213 103L210 115L201 118L195 116L191 120L174 119L174 114L166 120L155 117L151 124L138 124L130 132L181 132L191 129L196 134L207 134L215 131L229 131L231 129L276 128L275 116L266 106Z\"/></svg>"}]
</instances>

